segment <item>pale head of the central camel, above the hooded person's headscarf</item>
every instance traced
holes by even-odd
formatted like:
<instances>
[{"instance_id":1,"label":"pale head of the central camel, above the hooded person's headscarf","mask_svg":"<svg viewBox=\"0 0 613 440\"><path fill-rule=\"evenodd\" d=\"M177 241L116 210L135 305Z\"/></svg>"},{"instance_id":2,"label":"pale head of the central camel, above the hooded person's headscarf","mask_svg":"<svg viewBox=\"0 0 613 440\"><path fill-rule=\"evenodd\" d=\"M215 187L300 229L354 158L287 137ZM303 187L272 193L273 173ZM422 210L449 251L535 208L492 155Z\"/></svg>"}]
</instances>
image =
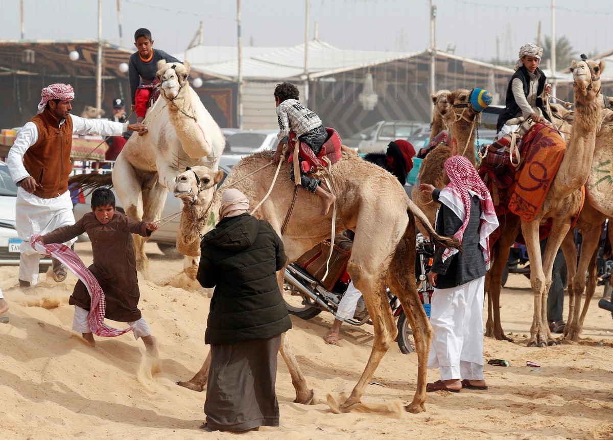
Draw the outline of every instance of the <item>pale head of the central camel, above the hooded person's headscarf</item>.
<instances>
[{"instance_id":1,"label":"pale head of the central camel, above the hooded person's headscarf","mask_svg":"<svg viewBox=\"0 0 613 440\"><path fill-rule=\"evenodd\" d=\"M188 167L175 178L173 194L191 205L203 203L204 200L210 201L213 199L216 184L221 181L223 176L223 170L213 172L210 168L202 165Z\"/></svg>"}]
</instances>

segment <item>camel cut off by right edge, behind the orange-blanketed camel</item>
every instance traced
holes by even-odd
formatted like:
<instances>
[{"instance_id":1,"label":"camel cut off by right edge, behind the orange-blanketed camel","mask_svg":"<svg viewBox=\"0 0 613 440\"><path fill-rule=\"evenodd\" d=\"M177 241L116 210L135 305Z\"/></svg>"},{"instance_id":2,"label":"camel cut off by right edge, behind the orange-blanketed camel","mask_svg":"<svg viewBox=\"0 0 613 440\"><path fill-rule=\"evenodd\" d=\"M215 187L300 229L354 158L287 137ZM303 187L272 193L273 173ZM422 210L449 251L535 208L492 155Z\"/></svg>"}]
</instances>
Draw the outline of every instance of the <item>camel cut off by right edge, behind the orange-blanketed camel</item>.
<instances>
[{"instance_id":1,"label":"camel cut off by right edge, behind the orange-blanketed camel","mask_svg":"<svg viewBox=\"0 0 613 440\"><path fill-rule=\"evenodd\" d=\"M608 108L601 112L601 120L609 122L613 112ZM596 134L596 145L592 161L592 167L585 184L585 203L579 214L577 227L581 229L582 251L579 257L578 267L568 267L568 294L569 294L569 313L566 327L564 328L565 340L577 341L581 334L585 316L587 314L590 300L596 289L596 255L598 253L598 243L604 221L607 217L613 216L613 199L611 198L611 184L613 184L613 167L611 147L613 145L613 127L603 125ZM609 237L613 234L613 229L609 228ZM566 254L577 258L577 249L574 246L573 231L566 235L562 248ZM588 273L586 284L585 276ZM577 275L581 276L577 276ZM585 302L581 310L581 298L585 290ZM579 311L581 310L581 316Z\"/></svg>"}]
</instances>

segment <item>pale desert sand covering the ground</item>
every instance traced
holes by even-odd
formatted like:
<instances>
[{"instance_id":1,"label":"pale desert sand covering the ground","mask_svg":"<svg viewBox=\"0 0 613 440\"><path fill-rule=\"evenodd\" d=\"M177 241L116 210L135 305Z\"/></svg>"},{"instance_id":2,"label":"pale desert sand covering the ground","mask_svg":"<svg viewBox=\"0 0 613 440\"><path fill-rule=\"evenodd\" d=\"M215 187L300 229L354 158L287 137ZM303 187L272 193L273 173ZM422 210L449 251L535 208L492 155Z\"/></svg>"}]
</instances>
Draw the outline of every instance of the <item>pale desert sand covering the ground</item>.
<instances>
[{"instance_id":1,"label":"pale desert sand covering the ground","mask_svg":"<svg viewBox=\"0 0 613 440\"><path fill-rule=\"evenodd\" d=\"M89 243L77 243L76 250L91 263ZM158 338L159 360L145 355L131 333L97 338L92 348L72 332L68 297L74 275L54 283L41 274L37 286L20 290L18 268L0 267L0 287L10 304L3 315L10 322L0 324L1 439L613 440L613 319L597 306L603 287L596 290L580 343L528 348L533 297L522 275L509 276L501 297L503 328L514 343L485 338L486 360L511 363L485 365L489 390L428 393L426 412L394 411L411 400L417 372L417 356L402 354L394 343L362 398L381 404L382 411L333 414L327 395L351 392L370 354L373 328L343 325L341 346L327 346L321 335L331 314L310 321L292 316L288 334L315 391L313 404L292 403L294 389L279 357L280 427L206 433L199 429L205 393L175 382L191 378L208 352L210 299L181 275L181 259L167 259L150 243L147 250L152 279L140 281L140 308ZM527 367L527 360L540 364L540 371ZM439 378L438 370L428 370L429 382Z\"/></svg>"}]
</instances>

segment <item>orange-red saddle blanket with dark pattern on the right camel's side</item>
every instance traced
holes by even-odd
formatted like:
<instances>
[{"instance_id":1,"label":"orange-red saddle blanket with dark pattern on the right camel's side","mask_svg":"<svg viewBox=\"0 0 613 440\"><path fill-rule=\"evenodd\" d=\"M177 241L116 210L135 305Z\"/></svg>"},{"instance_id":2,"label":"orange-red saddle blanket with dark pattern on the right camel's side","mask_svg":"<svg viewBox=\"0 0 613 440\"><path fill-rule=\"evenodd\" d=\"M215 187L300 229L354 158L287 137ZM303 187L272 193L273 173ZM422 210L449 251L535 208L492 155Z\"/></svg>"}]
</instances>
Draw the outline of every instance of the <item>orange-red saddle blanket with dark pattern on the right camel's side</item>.
<instances>
[{"instance_id":1,"label":"orange-red saddle blanket with dark pattern on the right camel's side","mask_svg":"<svg viewBox=\"0 0 613 440\"><path fill-rule=\"evenodd\" d=\"M519 178L516 173L509 210L531 221L541 210L566 146L557 131L544 124L534 124L522 138L521 148L524 161L517 170Z\"/></svg>"}]
</instances>

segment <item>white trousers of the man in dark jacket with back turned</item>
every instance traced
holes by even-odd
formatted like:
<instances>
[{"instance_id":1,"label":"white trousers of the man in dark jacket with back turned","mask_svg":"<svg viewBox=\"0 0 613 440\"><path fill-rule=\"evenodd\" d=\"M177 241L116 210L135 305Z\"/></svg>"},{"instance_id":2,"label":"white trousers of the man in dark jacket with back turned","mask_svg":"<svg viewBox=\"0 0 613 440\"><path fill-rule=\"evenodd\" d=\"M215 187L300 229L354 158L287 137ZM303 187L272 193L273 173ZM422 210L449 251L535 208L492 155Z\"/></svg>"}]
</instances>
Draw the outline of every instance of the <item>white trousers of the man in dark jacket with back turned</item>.
<instances>
[{"instance_id":1,"label":"white trousers of the man in dark jacket with back turned","mask_svg":"<svg viewBox=\"0 0 613 440\"><path fill-rule=\"evenodd\" d=\"M434 338L428 368L440 368L443 381L484 378L484 288L482 276L462 286L434 289L430 311Z\"/></svg>"}]
</instances>

